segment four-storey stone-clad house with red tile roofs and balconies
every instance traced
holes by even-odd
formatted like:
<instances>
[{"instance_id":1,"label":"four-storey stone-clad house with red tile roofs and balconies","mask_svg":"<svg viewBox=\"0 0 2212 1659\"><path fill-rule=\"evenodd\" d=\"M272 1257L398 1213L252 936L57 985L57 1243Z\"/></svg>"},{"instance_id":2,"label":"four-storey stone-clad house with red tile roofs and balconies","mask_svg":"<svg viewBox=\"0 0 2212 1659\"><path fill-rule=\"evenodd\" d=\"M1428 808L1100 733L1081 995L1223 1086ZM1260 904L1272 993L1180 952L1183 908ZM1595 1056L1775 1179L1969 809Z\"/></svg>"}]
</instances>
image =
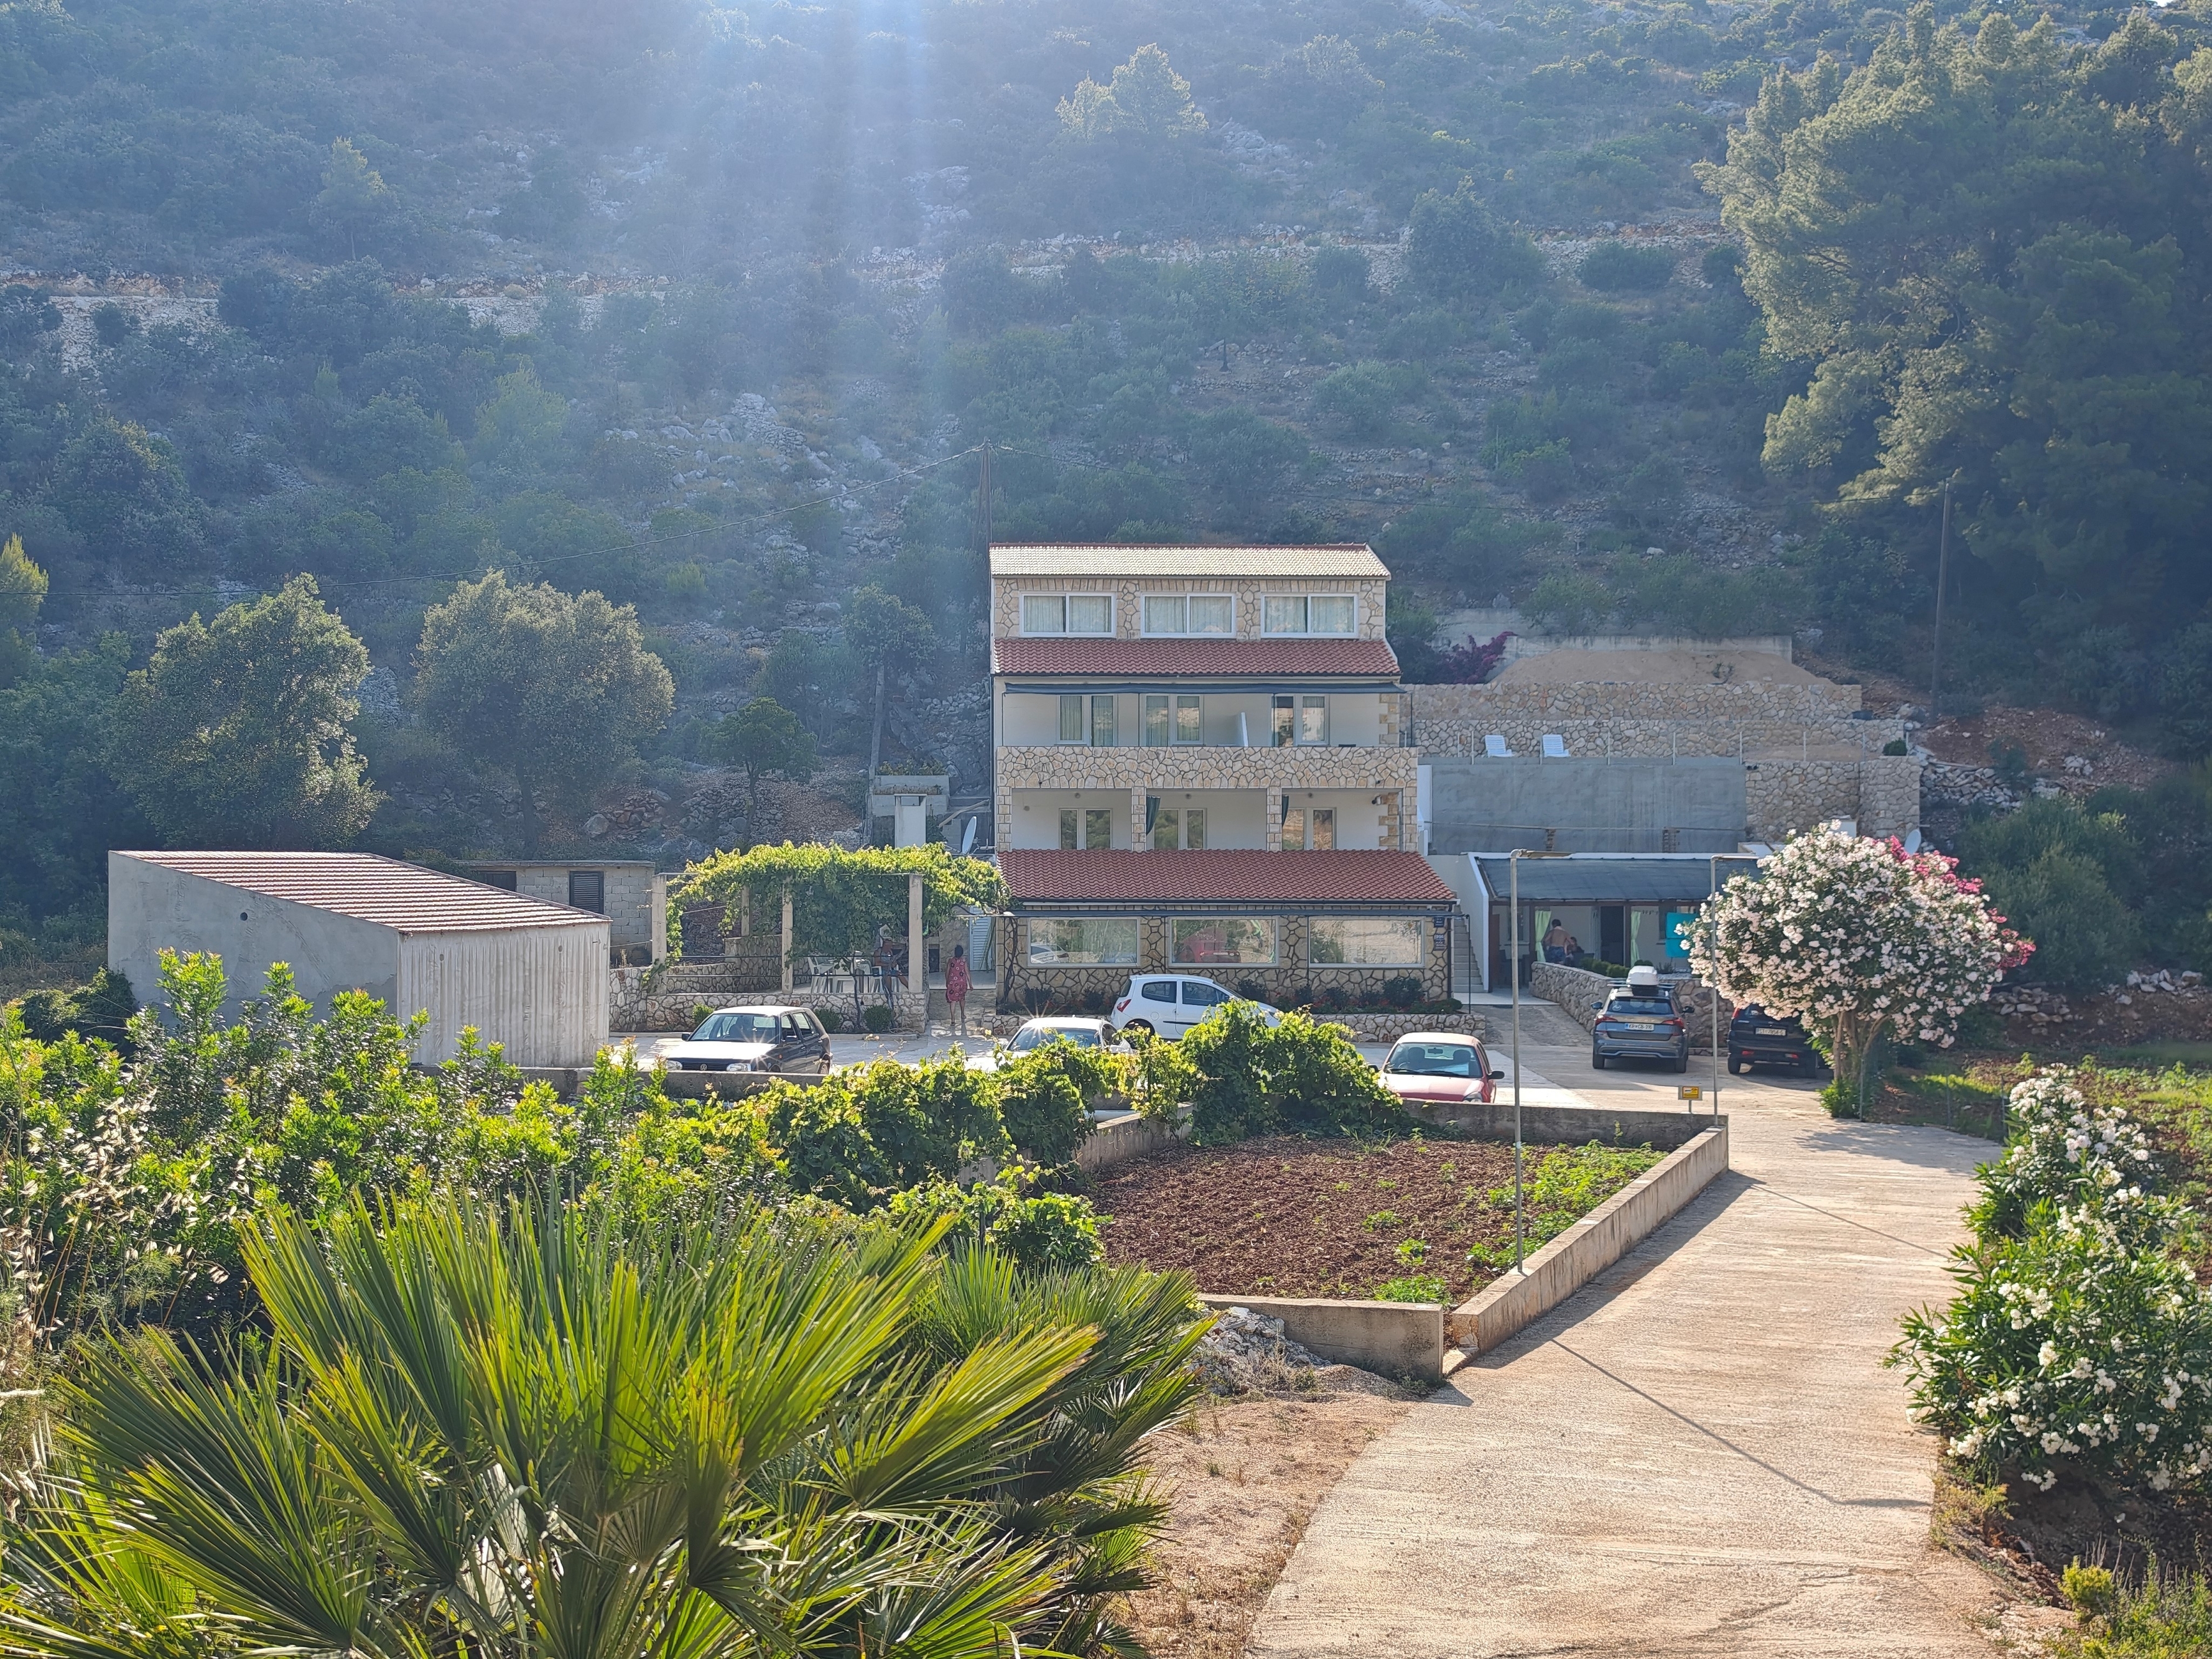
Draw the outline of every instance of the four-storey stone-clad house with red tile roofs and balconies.
<instances>
[{"instance_id":1,"label":"four-storey stone-clad house with red tile roofs and balconies","mask_svg":"<svg viewBox=\"0 0 2212 1659\"><path fill-rule=\"evenodd\" d=\"M1387 591L1367 546L991 549L1002 1002L1442 993Z\"/></svg>"}]
</instances>

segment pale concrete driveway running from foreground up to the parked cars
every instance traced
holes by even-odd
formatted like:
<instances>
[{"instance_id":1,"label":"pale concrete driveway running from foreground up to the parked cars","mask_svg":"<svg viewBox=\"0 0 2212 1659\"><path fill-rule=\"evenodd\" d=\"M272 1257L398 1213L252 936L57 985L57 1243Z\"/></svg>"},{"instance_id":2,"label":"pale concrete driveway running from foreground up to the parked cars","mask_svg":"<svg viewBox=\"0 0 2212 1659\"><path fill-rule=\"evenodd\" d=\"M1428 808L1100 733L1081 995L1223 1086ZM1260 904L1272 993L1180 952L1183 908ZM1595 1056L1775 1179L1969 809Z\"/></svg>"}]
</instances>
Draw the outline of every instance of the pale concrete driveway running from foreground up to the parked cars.
<instances>
[{"instance_id":1,"label":"pale concrete driveway running from foreground up to the parked cars","mask_svg":"<svg viewBox=\"0 0 2212 1659\"><path fill-rule=\"evenodd\" d=\"M1548 1004L1522 1048L1524 1088L1586 1104L1703 1082L1593 1073ZM1933 1440L1880 1365L1949 1292L1989 1146L1832 1121L1812 1084L1723 1088L1732 1172L1360 1455L1254 1659L1991 1652L1982 1579L1927 1548Z\"/></svg>"}]
</instances>

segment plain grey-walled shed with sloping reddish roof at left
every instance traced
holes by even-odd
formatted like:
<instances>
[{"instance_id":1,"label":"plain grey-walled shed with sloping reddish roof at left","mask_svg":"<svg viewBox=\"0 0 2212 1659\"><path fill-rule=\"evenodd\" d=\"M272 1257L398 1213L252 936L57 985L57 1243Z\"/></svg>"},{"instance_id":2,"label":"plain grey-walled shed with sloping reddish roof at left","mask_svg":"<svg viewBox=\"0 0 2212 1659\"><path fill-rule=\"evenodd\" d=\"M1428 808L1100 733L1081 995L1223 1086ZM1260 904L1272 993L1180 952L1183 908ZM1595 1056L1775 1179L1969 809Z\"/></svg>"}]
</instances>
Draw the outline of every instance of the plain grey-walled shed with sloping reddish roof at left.
<instances>
[{"instance_id":1,"label":"plain grey-walled shed with sloping reddish roof at left","mask_svg":"<svg viewBox=\"0 0 2212 1659\"><path fill-rule=\"evenodd\" d=\"M142 1002L159 956L212 951L230 1011L272 962L327 1009L367 991L429 1013L416 1044L449 1060L462 1026L518 1066L588 1066L606 1042L606 918L363 852L111 852L108 967Z\"/></svg>"}]
</instances>

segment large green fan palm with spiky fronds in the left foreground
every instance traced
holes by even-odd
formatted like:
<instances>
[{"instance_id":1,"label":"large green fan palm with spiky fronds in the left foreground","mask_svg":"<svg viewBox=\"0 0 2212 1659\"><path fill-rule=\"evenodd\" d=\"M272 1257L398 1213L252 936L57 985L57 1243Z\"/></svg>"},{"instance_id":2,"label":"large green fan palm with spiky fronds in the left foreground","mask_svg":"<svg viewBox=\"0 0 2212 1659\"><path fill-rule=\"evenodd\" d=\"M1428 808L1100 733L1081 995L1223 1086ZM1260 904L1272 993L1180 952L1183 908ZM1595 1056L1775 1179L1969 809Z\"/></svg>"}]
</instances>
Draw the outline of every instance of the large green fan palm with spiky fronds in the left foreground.
<instances>
[{"instance_id":1,"label":"large green fan palm with spiky fronds in the left foreground","mask_svg":"<svg viewBox=\"0 0 2212 1659\"><path fill-rule=\"evenodd\" d=\"M617 1237L462 1197L263 1217L246 1259L265 1343L142 1332L69 1385L0 1557L7 1650L1126 1648L1097 1608L1157 1520L1130 1471L1188 1402L1188 1285L1024 1287L936 1230Z\"/></svg>"}]
</instances>

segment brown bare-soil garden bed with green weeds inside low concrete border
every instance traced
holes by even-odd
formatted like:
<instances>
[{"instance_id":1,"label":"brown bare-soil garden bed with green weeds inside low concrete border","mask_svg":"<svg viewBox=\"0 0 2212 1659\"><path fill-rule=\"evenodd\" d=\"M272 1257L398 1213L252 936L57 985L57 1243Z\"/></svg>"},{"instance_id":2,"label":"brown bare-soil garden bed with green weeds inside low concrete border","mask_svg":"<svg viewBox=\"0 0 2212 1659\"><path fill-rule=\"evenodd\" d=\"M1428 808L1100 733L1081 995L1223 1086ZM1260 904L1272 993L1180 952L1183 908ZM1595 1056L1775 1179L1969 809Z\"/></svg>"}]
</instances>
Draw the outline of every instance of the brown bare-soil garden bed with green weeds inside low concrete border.
<instances>
[{"instance_id":1,"label":"brown bare-soil garden bed with green weeds inside low concrete border","mask_svg":"<svg viewBox=\"0 0 2212 1659\"><path fill-rule=\"evenodd\" d=\"M1528 1248L1659 1157L1526 1148ZM1460 1303L1513 1259L1513 1148L1498 1141L1172 1146L1115 1166L1095 1201L1110 1217L1110 1261L1183 1267L1217 1296L1360 1298L1433 1274L1442 1298Z\"/></svg>"}]
</instances>

